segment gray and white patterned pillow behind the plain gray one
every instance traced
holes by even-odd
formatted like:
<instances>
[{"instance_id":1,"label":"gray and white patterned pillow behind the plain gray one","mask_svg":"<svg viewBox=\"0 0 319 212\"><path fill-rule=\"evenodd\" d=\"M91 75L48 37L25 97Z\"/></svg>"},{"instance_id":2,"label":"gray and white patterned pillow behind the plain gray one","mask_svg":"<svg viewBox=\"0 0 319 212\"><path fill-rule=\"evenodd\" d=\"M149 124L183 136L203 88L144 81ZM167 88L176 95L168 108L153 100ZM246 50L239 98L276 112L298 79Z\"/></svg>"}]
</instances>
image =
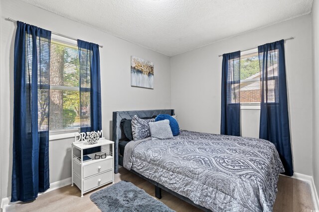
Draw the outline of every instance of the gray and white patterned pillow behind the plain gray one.
<instances>
[{"instance_id":1,"label":"gray and white patterned pillow behind the plain gray one","mask_svg":"<svg viewBox=\"0 0 319 212\"><path fill-rule=\"evenodd\" d=\"M132 136L133 140L141 140L151 136L150 122L155 122L155 119L140 119L134 116L132 119Z\"/></svg>"}]
</instances>

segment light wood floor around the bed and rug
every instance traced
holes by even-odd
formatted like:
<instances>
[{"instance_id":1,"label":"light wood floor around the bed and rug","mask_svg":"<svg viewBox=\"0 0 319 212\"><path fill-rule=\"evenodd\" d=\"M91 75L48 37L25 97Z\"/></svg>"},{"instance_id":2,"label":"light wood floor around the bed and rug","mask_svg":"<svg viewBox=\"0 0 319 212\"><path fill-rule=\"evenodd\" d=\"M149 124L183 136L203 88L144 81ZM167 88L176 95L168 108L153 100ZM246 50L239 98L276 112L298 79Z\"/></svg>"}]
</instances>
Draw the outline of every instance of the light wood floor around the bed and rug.
<instances>
[{"instance_id":1,"label":"light wood floor around the bed and rug","mask_svg":"<svg viewBox=\"0 0 319 212\"><path fill-rule=\"evenodd\" d=\"M115 181L126 180L144 189L151 196L155 196L154 185L131 173L125 168L120 168L120 173L115 175ZM111 184L112 185L112 184ZM105 187L104 187L105 188ZM103 189L103 188L100 188ZM99 190L99 189L97 189ZM90 195L97 190L80 197L80 190L76 186L65 186L52 192L40 195L35 201L18 203L9 206L7 212L99 212L100 210L90 200ZM201 210L162 191L160 200L176 212L200 212ZM278 183L277 199L274 212L310 212L314 210L310 186L300 180L280 176Z\"/></svg>"}]
</instances>

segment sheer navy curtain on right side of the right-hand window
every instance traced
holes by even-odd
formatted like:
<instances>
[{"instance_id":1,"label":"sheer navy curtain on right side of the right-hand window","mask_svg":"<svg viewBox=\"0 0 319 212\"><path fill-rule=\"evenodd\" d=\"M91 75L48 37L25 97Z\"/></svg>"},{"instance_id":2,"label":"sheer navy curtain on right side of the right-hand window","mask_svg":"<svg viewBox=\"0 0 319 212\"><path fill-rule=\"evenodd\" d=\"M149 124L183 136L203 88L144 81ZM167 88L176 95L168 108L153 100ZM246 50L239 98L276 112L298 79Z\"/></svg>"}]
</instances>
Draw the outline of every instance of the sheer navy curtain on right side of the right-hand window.
<instances>
[{"instance_id":1,"label":"sheer navy curtain on right side of the right-hand window","mask_svg":"<svg viewBox=\"0 0 319 212\"><path fill-rule=\"evenodd\" d=\"M259 138L275 144L288 176L294 174L290 143L284 40L258 47L261 77Z\"/></svg>"}]
</instances>

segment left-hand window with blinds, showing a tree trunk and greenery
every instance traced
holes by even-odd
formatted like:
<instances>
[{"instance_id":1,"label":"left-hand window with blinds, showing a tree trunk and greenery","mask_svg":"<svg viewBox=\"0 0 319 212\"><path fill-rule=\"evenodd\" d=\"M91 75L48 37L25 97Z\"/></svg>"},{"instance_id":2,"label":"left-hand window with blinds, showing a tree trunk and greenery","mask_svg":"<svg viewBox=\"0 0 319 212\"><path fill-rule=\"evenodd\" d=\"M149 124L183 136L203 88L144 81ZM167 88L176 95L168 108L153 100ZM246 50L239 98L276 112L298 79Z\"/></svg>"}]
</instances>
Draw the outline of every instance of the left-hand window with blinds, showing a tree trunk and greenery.
<instances>
[{"instance_id":1,"label":"left-hand window with blinds, showing a tree trunk and greenery","mask_svg":"<svg viewBox=\"0 0 319 212\"><path fill-rule=\"evenodd\" d=\"M78 47L55 39L50 49L49 130L80 128L81 118L90 123L90 107L80 107L80 65ZM85 95L81 98L87 99ZM83 99L81 99L83 101ZM82 120L83 121L83 120Z\"/></svg>"}]
</instances>

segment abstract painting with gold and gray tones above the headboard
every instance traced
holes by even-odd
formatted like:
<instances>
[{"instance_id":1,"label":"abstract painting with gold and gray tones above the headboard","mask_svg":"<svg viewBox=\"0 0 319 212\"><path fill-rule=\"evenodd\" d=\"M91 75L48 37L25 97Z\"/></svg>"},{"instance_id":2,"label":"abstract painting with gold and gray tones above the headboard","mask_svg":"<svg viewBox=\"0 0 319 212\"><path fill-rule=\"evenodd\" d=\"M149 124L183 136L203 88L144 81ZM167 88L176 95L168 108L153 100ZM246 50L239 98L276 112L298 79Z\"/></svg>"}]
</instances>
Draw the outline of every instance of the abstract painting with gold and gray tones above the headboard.
<instances>
[{"instance_id":1,"label":"abstract painting with gold and gray tones above the headboard","mask_svg":"<svg viewBox=\"0 0 319 212\"><path fill-rule=\"evenodd\" d=\"M131 56L131 86L154 88L154 63Z\"/></svg>"}]
</instances>

